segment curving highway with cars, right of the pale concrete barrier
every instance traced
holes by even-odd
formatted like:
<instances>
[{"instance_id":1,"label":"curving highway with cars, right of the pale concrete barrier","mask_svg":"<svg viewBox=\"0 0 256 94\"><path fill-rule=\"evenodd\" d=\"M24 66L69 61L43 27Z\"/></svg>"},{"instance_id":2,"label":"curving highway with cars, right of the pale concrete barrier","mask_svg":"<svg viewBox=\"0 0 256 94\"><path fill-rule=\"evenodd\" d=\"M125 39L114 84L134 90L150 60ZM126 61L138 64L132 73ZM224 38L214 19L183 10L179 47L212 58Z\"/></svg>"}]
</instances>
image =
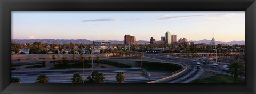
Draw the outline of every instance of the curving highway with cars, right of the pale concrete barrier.
<instances>
[{"instance_id":1,"label":"curving highway with cars, right of the pale concrete barrier","mask_svg":"<svg viewBox=\"0 0 256 94\"><path fill-rule=\"evenodd\" d=\"M173 56L170 56L170 55L159 55L159 54L152 54L152 53L144 53L144 56L149 57L149 58L153 58L153 59L159 59L159 60L166 61L166 62L180 63L180 57L173 57ZM167 58L167 57L170 57L170 58ZM210 64L216 63L214 61L210 61L209 64L206 64L204 66L203 61L206 60L206 59L207 59L207 57L198 58L198 59L196 59L196 62L193 62L194 59L188 59L188 58L182 58L181 57L181 62L184 63L184 64L187 64L188 69L185 72L181 73L179 76L173 77L169 80L162 81L160 83L188 83L190 81L195 80L196 78L201 76L204 69L209 69ZM197 62L201 63L201 69L196 68L196 63ZM217 62L217 64L218 64L217 68L210 67L209 70L221 72L221 67L222 67L221 63ZM227 65L227 63L222 63L222 65ZM222 70L222 73L227 74L225 70Z\"/></svg>"}]
</instances>

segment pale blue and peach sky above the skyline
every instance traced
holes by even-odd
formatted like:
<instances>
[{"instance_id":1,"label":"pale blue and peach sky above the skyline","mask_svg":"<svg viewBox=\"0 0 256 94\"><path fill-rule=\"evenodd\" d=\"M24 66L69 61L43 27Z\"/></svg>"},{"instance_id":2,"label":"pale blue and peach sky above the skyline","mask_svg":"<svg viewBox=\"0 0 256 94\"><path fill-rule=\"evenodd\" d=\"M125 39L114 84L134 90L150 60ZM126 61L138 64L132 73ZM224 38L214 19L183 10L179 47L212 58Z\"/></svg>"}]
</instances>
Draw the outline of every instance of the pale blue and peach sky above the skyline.
<instances>
[{"instance_id":1,"label":"pale blue and peach sky above the skyline","mask_svg":"<svg viewBox=\"0 0 256 94\"><path fill-rule=\"evenodd\" d=\"M245 40L244 11L12 11L12 39ZM214 35L213 35L214 34Z\"/></svg>"}]
</instances>

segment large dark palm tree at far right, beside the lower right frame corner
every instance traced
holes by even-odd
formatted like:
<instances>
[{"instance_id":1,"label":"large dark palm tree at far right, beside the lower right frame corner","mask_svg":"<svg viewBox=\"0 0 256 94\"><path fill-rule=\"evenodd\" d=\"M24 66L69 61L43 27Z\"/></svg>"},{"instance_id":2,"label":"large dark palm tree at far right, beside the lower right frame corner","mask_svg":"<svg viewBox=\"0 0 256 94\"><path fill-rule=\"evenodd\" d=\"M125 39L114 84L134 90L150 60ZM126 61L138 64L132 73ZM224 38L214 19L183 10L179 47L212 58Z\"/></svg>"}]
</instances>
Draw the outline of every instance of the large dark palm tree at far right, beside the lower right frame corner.
<instances>
[{"instance_id":1,"label":"large dark palm tree at far right, beside the lower right frame corner","mask_svg":"<svg viewBox=\"0 0 256 94\"><path fill-rule=\"evenodd\" d=\"M236 78L244 76L245 68L241 62L231 62L227 67L229 68L227 73L231 74L231 76L234 76L234 83L236 83Z\"/></svg>"}]
</instances>

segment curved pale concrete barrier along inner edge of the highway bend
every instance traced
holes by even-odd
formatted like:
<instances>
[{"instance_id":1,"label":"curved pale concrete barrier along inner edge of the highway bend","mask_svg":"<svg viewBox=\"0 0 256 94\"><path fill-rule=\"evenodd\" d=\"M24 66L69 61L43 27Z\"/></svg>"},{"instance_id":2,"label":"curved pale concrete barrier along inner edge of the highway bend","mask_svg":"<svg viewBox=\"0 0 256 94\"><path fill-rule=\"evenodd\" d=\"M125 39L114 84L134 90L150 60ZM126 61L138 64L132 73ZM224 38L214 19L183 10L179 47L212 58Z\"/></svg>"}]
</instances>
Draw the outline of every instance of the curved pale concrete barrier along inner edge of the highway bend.
<instances>
[{"instance_id":1,"label":"curved pale concrete barrier along inner edge of the highway bend","mask_svg":"<svg viewBox=\"0 0 256 94\"><path fill-rule=\"evenodd\" d=\"M172 72L172 73L171 73L171 76L169 76L169 77L165 77L165 78L158 79L158 80L151 81L151 82L147 82L147 83L157 83L157 82L161 82L161 81L170 79L170 78L172 78L172 77L178 76L179 74L183 73L183 72L186 71L187 69L188 69L188 67L186 66L185 68L182 68L182 69L180 69L180 70L178 70L178 71Z\"/></svg>"}]
</instances>

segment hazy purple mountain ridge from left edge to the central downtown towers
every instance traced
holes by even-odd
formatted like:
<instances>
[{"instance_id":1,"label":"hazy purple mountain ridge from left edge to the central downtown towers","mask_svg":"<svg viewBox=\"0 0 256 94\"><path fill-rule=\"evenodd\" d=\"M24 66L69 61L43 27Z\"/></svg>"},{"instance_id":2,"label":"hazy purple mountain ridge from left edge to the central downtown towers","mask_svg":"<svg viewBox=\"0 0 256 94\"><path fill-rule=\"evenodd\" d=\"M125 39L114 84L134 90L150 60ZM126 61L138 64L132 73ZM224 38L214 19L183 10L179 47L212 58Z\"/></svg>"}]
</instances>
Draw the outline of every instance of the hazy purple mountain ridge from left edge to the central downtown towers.
<instances>
[{"instance_id":1,"label":"hazy purple mountain ridge from left edge to the central downtown towers","mask_svg":"<svg viewBox=\"0 0 256 94\"><path fill-rule=\"evenodd\" d=\"M69 44L72 43L83 43L83 44L92 44L93 41L87 39L12 39L12 43L34 43L34 42L41 42L41 43L58 43L58 44ZM124 41L118 40L110 40L110 42L117 43L117 44L124 44ZM148 41L139 40L136 42L147 43Z\"/></svg>"}]
</instances>

